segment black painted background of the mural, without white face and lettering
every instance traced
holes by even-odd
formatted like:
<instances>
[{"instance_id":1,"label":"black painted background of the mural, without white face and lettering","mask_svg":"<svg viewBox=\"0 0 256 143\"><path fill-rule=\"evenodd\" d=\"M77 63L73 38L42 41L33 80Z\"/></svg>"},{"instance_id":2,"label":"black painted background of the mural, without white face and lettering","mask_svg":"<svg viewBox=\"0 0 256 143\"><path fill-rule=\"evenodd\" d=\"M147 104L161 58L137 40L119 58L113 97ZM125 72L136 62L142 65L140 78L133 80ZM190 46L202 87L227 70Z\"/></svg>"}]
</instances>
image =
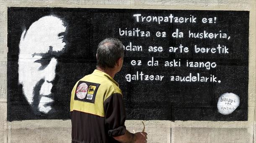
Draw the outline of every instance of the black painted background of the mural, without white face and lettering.
<instances>
[{"instance_id":1,"label":"black painted background of the mural, without white face and lettering","mask_svg":"<svg viewBox=\"0 0 256 143\"><path fill-rule=\"evenodd\" d=\"M134 14L197 18L196 23L136 22ZM46 15L55 15L66 26L65 50L58 56L56 76L52 87L52 110L37 112L27 103L18 84L18 53L21 33L32 23ZM202 23L202 18L214 18L216 23ZM123 69L115 76L123 91L128 120L247 120L248 119L248 22L247 11L201 10L128 10L128 9L75 9L75 8L8 8L8 120L69 119L71 90L78 79L90 74L96 67L96 51L100 41L107 37L119 38L126 47L141 45L143 51L125 51ZM149 37L120 36L119 28L150 31ZM183 31L183 38L172 33ZM231 38L188 38L188 31L201 33L227 33ZM165 31L167 37L157 37ZM188 53L170 53L170 46L180 44ZM229 54L196 54L193 46L229 48ZM149 52L149 46L162 46L162 52ZM159 66L148 66L154 57ZM181 61L180 67L165 67L165 61ZM47 59L45 59L47 60ZM141 60L141 66L132 66L132 60ZM186 61L216 62L216 68L190 68ZM29 65L28 65L29 66ZM127 74L142 71L149 75L163 75L162 81L131 81ZM188 76L189 73L209 77L221 82L175 82L170 76ZM32 76L31 76L32 78ZM36 87L40 88L40 87ZM229 115L218 112L219 97L232 92L240 97L240 105ZM38 104L38 103L33 103Z\"/></svg>"}]
</instances>

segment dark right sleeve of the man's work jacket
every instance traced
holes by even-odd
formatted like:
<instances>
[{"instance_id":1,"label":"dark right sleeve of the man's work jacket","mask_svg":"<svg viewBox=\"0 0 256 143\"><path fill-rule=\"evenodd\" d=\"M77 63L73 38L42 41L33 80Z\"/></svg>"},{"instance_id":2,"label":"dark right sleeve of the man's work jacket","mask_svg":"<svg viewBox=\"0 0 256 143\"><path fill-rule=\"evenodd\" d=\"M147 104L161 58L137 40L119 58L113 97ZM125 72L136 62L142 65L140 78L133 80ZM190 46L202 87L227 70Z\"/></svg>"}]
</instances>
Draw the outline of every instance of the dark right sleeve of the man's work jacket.
<instances>
[{"instance_id":1,"label":"dark right sleeve of the man's work jacket","mask_svg":"<svg viewBox=\"0 0 256 143\"><path fill-rule=\"evenodd\" d=\"M112 94L104 101L105 127L109 136L125 134L125 108L122 94Z\"/></svg>"}]
</instances>

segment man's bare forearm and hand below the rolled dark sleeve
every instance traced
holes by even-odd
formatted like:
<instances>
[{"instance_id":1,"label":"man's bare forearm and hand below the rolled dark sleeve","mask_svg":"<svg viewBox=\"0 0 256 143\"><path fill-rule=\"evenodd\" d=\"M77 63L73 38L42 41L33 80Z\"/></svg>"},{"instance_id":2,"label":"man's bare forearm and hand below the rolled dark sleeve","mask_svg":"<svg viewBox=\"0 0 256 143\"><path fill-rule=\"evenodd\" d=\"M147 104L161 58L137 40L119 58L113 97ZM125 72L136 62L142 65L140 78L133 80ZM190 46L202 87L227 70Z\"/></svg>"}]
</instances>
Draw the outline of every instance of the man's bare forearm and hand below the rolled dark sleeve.
<instances>
[{"instance_id":1,"label":"man's bare forearm and hand below the rolled dark sleeve","mask_svg":"<svg viewBox=\"0 0 256 143\"><path fill-rule=\"evenodd\" d=\"M145 132L138 132L133 134L126 130L124 135L120 135L113 138L115 140L118 140L120 143L146 143L146 135L147 133Z\"/></svg>"}]
</instances>

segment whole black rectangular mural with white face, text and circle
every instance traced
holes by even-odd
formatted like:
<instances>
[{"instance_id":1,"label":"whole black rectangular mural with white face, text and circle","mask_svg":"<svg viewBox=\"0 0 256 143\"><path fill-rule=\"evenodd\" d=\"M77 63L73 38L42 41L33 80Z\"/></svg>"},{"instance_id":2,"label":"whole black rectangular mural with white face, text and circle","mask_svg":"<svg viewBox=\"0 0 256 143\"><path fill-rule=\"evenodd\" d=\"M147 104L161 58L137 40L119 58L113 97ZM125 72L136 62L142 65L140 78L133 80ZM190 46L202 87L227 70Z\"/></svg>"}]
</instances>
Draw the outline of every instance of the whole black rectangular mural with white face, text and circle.
<instances>
[{"instance_id":1,"label":"whole black rectangular mural with white face, text and circle","mask_svg":"<svg viewBox=\"0 0 256 143\"><path fill-rule=\"evenodd\" d=\"M69 119L106 37L124 44L128 120L247 120L248 14L8 8L8 121Z\"/></svg>"}]
</instances>

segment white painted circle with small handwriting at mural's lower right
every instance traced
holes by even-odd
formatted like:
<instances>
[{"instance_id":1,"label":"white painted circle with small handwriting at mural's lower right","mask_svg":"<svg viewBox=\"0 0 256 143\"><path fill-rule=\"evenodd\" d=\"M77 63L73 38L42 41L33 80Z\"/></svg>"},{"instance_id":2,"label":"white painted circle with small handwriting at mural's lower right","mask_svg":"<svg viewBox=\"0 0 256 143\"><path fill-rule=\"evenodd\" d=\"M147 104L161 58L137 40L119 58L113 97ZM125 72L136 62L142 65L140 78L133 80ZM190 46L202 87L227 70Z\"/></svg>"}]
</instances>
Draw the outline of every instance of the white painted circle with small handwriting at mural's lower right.
<instances>
[{"instance_id":1,"label":"white painted circle with small handwriting at mural's lower right","mask_svg":"<svg viewBox=\"0 0 256 143\"><path fill-rule=\"evenodd\" d=\"M235 111L240 105L240 98L234 93L224 93L218 100L218 111L222 115L228 115Z\"/></svg>"}]
</instances>

